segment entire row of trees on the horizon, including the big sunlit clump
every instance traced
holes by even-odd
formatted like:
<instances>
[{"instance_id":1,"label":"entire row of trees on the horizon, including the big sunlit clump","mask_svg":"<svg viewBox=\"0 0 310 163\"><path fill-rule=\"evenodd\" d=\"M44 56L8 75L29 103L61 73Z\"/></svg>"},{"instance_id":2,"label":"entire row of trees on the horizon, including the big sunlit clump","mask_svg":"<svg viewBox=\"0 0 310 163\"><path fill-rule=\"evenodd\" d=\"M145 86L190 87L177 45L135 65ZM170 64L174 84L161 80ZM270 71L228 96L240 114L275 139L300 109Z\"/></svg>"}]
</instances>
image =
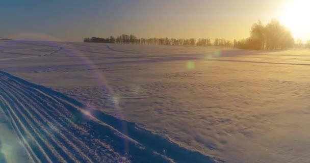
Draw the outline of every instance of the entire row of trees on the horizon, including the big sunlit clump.
<instances>
[{"instance_id":1,"label":"entire row of trees on the horizon, including the big sunlit clump","mask_svg":"<svg viewBox=\"0 0 310 163\"><path fill-rule=\"evenodd\" d=\"M250 31L250 37L243 40L234 40L233 42L226 39L175 39L175 38L137 38L134 35L122 34L118 37L110 36L109 38L91 37L84 38L84 42L101 42L101 43L119 43L119 44L156 44L156 45L192 45L192 46L221 46L235 47L252 50L278 50L292 47L310 48L310 40L305 44L298 39L295 40L291 32L278 20L271 20L267 25L261 21L254 23Z\"/></svg>"}]
</instances>

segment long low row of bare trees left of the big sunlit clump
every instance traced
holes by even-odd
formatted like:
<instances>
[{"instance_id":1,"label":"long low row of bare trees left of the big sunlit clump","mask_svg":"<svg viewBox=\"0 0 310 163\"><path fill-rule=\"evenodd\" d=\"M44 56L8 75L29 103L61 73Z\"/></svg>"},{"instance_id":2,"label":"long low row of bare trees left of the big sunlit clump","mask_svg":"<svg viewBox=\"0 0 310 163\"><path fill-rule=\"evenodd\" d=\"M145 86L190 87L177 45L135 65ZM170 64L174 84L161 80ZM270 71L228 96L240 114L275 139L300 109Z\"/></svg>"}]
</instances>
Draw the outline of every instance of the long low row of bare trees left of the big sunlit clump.
<instances>
[{"instance_id":1,"label":"long low row of bare trees left of the big sunlit clump","mask_svg":"<svg viewBox=\"0 0 310 163\"><path fill-rule=\"evenodd\" d=\"M154 45L192 45L192 46L223 46L232 47L233 43L225 39L211 39L195 38L190 39L176 39L176 38L137 38L135 35L122 34L118 37L110 36L108 38L91 37L84 38L84 42L101 42L101 43L119 43L119 44L154 44Z\"/></svg>"}]
</instances>

